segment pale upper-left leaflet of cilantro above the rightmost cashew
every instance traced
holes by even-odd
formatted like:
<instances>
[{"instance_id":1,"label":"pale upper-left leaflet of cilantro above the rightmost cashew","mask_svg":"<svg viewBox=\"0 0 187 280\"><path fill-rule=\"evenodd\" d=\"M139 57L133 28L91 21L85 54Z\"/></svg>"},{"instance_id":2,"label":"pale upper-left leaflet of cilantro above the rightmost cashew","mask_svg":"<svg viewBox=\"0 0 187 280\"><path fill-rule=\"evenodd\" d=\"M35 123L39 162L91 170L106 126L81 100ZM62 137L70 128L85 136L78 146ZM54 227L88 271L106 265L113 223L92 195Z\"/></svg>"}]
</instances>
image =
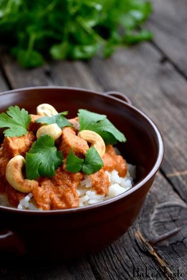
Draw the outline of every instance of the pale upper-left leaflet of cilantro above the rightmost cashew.
<instances>
[{"instance_id":1,"label":"pale upper-left leaflet of cilantro above the rightmost cashew","mask_svg":"<svg viewBox=\"0 0 187 280\"><path fill-rule=\"evenodd\" d=\"M78 117L81 130L89 129L89 127L97 121L104 120L106 118L105 115L100 115L84 109L79 109Z\"/></svg>"}]
</instances>

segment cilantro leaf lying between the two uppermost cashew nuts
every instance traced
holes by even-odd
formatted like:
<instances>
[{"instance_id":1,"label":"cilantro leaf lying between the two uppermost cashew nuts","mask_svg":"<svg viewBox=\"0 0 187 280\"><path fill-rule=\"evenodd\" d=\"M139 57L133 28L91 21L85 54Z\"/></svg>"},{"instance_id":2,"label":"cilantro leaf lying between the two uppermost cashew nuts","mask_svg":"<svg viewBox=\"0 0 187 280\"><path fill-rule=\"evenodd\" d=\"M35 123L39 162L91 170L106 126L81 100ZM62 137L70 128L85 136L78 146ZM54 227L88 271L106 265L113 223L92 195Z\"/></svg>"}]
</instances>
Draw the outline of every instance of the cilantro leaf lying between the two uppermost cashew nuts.
<instances>
[{"instance_id":1,"label":"cilantro leaf lying between the two uppermost cashew nuts","mask_svg":"<svg viewBox=\"0 0 187 280\"><path fill-rule=\"evenodd\" d=\"M45 123L45 124L52 124L52 123L56 123L58 124L58 126L60 128L64 127L64 126L72 126L72 124L69 122L69 120L67 120L65 117L63 117L63 115L67 115L68 112L62 112L59 113L55 116L52 117L42 117L39 118L37 120L35 120L36 122L40 122L40 123Z\"/></svg>"}]
</instances>

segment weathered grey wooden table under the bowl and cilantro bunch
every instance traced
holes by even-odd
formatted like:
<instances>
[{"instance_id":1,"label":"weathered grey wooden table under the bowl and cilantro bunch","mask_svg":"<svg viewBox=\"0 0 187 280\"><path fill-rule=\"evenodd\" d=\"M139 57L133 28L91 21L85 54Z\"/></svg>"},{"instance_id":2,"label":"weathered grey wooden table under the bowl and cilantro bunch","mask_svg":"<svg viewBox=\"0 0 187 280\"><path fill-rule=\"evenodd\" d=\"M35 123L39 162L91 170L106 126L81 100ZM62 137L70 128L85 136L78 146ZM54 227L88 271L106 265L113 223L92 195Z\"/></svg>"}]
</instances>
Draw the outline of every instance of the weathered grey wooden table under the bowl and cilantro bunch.
<instances>
[{"instance_id":1,"label":"weathered grey wooden table under the bowl and cilantro bunch","mask_svg":"<svg viewBox=\"0 0 187 280\"><path fill-rule=\"evenodd\" d=\"M24 70L1 54L0 91L40 85L120 91L155 121L166 152L139 218L120 240L81 260L0 263L0 279L187 279L187 1L154 0L147 27L153 42L119 49L107 60L51 61ZM175 228L181 231L148 243Z\"/></svg>"}]
</instances>

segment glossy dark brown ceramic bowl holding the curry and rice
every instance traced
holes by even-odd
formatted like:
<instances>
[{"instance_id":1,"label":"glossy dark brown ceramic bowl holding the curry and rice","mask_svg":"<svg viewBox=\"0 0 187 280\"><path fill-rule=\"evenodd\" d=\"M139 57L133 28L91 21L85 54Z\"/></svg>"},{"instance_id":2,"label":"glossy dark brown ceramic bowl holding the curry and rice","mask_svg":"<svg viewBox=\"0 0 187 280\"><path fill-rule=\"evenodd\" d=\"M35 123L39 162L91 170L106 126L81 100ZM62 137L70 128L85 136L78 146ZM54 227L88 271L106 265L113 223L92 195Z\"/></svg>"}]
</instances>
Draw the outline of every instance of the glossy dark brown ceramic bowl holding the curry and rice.
<instances>
[{"instance_id":1,"label":"glossy dark brown ceramic bowl holding the curry and rice","mask_svg":"<svg viewBox=\"0 0 187 280\"><path fill-rule=\"evenodd\" d=\"M0 250L28 257L81 257L117 240L132 225L151 187L164 155L155 124L116 92L65 87L35 87L0 94L0 112L19 105L36 113L50 103L69 118L79 108L106 114L127 139L118 145L127 162L137 166L136 184L125 193L91 206L67 210L28 211L0 206ZM3 135L0 134L0 141Z\"/></svg>"}]
</instances>

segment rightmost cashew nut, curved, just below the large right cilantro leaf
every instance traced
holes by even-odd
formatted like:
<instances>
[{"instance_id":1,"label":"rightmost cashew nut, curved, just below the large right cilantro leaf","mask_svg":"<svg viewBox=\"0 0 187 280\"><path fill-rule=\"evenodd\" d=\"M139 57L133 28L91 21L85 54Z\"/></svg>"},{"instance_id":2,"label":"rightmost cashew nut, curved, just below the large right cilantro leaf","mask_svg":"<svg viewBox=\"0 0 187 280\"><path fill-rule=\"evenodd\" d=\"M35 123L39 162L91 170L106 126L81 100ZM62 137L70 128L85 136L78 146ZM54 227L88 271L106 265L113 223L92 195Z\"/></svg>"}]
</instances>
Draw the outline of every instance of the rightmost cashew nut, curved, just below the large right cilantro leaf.
<instances>
[{"instance_id":1,"label":"rightmost cashew nut, curved, just below the large right cilantro leaf","mask_svg":"<svg viewBox=\"0 0 187 280\"><path fill-rule=\"evenodd\" d=\"M98 151L101 158L104 156L105 144L103 138L99 134L91 130L83 130L79 132L78 136L91 143L91 146Z\"/></svg>"}]
</instances>

